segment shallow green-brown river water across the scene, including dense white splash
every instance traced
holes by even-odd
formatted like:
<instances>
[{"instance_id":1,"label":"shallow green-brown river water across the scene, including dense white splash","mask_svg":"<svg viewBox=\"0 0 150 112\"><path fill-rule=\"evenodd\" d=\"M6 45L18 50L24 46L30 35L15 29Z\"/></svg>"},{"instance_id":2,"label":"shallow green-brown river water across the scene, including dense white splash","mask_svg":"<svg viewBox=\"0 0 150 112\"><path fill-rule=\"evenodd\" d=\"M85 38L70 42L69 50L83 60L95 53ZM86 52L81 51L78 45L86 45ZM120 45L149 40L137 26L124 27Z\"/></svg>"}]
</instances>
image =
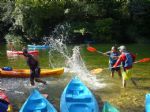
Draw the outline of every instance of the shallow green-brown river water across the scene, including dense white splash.
<instances>
[{"instance_id":1,"label":"shallow green-brown river water across the scene, including dense white splash","mask_svg":"<svg viewBox=\"0 0 150 112\"><path fill-rule=\"evenodd\" d=\"M80 46L80 47L79 47ZM98 50L107 51L112 46L94 45ZM109 101L121 112L143 112L145 94L150 92L150 63L138 63L134 65L134 78L138 84L135 87L130 81L127 88L121 88L121 80L115 74L114 79L110 77L109 70L103 70L97 75L92 75L90 70L95 68L106 68L108 58L98 53L90 53L86 45L68 45L67 52L62 54L55 50L39 50L39 62L41 68L64 67L65 72L58 77L43 78L48 82L47 86L36 83L30 86L29 79L23 78L0 78L0 88L6 89L14 111L18 112L29 96L33 88L38 88L41 93L49 95L48 100L59 110L60 96L63 89L72 77L78 76L96 96L100 107L104 101ZM149 45L128 45L132 52L137 53L137 60L150 56ZM138 49L137 49L138 48ZM0 67L11 66L12 68L28 68L24 57L7 56L7 45L0 46ZM16 48L21 50L21 47ZM64 53L64 52L63 52Z\"/></svg>"}]
</instances>

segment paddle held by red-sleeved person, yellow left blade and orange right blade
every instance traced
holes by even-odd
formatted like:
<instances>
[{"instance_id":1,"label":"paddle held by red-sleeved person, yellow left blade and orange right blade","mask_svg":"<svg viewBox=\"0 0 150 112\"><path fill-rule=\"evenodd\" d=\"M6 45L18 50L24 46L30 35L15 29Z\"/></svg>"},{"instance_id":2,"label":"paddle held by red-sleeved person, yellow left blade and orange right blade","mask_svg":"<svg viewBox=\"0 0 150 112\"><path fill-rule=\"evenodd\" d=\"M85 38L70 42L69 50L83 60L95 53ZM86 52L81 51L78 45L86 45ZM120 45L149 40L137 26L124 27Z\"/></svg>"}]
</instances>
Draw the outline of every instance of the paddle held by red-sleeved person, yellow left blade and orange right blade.
<instances>
[{"instance_id":1,"label":"paddle held by red-sleeved person, yellow left blade and orange right blade","mask_svg":"<svg viewBox=\"0 0 150 112\"><path fill-rule=\"evenodd\" d=\"M150 62L150 58L143 58L141 60L135 61L134 64L136 64L136 63L144 63L144 62ZM117 67L121 67L121 66L122 65L117 66ZM102 72L103 70L110 69L110 68L114 68L114 67L93 69L93 70L91 70L91 73L92 74L98 74L98 73Z\"/></svg>"}]
</instances>

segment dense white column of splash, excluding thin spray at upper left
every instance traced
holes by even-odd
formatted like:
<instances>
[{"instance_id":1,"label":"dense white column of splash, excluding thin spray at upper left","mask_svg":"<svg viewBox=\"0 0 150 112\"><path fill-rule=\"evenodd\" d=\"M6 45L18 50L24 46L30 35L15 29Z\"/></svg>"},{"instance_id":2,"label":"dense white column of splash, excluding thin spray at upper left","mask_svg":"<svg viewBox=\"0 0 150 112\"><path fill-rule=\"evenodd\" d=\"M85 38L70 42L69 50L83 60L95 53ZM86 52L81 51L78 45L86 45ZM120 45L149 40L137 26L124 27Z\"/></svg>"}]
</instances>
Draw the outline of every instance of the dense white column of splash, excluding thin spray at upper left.
<instances>
[{"instance_id":1,"label":"dense white column of splash, excluding thin spray at upper left","mask_svg":"<svg viewBox=\"0 0 150 112\"><path fill-rule=\"evenodd\" d=\"M92 75L88 70L80 55L80 47L75 46L73 49L72 57L69 58L67 65L70 70L75 73L81 80L86 81L91 88L98 89L104 87L105 84L100 83L96 76ZM90 82L90 83L89 83Z\"/></svg>"}]
</instances>

